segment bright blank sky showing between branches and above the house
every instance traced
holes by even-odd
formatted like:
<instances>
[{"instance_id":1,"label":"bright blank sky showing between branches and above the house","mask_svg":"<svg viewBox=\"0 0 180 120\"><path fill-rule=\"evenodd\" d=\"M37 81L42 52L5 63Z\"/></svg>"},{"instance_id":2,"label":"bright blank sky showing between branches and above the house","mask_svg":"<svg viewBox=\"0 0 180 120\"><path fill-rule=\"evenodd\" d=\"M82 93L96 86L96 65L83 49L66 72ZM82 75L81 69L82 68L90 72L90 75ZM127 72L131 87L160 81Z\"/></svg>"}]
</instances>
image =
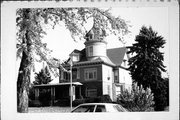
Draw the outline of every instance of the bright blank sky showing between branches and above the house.
<instances>
[{"instance_id":1,"label":"bright blank sky showing between branches and above the house","mask_svg":"<svg viewBox=\"0 0 180 120\"><path fill-rule=\"evenodd\" d=\"M106 8L103 8L106 9ZM109 8L107 8L109 9ZM135 42L135 36L139 34L141 27L151 26L152 29L158 32L166 40L165 48L162 52L165 53L164 65L169 69L169 24L168 24L168 9L166 7L122 7L122 8L111 8L114 16L120 16L122 19L129 21L128 23L132 26L129 30L130 34L125 36L125 46L130 46ZM89 20L85 25L87 30L92 27L92 20ZM122 47L123 44L116 39L114 36L106 38L108 44L107 48ZM55 29L49 29L47 36L43 39L47 43L47 47L53 50L52 56L55 58L66 60L69 54L74 50L81 50L85 47L84 41L74 41L70 32L63 26L63 24L57 25Z\"/></svg>"}]
</instances>

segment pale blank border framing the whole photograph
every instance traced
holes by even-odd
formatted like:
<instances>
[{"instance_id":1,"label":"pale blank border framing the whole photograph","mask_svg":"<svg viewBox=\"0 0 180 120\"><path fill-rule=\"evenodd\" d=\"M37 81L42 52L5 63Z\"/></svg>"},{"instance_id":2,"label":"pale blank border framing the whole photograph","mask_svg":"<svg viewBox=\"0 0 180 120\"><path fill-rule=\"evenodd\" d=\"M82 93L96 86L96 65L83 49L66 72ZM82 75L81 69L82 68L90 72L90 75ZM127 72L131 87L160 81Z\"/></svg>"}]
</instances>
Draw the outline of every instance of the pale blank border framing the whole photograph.
<instances>
[{"instance_id":1,"label":"pale blank border framing the whole photograph","mask_svg":"<svg viewBox=\"0 0 180 120\"><path fill-rule=\"evenodd\" d=\"M169 112L128 113L17 113L16 103L16 10L39 7L167 7L169 21ZM53 120L178 120L179 118L179 5L171 1L15 1L1 3L1 118L2 120L53 119Z\"/></svg>"}]
</instances>

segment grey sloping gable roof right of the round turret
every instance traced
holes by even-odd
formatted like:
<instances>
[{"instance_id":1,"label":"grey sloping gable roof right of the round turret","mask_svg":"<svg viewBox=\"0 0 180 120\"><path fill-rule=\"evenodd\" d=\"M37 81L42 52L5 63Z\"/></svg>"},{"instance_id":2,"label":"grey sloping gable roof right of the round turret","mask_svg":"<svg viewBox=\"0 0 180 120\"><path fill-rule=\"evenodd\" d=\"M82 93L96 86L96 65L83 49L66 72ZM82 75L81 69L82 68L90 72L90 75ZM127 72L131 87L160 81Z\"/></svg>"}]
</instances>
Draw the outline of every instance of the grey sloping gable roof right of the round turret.
<instances>
[{"instance_id":1,"label":"grey sloping gable roof right of the round turret","mask_svg":"<svg viewBox=\"0 0 180 120\"><path fill-rule=\"evenodd\" d=\"M115 65L120 66L123 62L126 51L126 47L107 49L107 56Z\"/></svg>"}]
</instances>

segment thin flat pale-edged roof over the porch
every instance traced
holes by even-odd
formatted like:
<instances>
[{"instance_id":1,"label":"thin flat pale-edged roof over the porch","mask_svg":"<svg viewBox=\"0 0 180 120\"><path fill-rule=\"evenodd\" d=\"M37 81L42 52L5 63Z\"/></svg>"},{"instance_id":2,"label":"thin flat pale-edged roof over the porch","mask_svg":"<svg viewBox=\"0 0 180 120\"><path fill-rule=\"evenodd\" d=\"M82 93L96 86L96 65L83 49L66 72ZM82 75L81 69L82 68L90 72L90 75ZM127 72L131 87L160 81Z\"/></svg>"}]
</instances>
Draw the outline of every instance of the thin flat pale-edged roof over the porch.
<instances>
[{"instance_id":1,"label":"thin flat pale-edged roof over the porch","mask_svg":"<svg viewBox=\"0 0 180 120\"><path fill-rule=\"evenodd\" d=\"M51 86L62 86L62 85L70 85L70 82L66 83L55 83L55 84L41 84L41 85L33 85L34 87L51 87ZM83 85L80 82L72 82L72 85Z\"/></svg>"}]
</instances>

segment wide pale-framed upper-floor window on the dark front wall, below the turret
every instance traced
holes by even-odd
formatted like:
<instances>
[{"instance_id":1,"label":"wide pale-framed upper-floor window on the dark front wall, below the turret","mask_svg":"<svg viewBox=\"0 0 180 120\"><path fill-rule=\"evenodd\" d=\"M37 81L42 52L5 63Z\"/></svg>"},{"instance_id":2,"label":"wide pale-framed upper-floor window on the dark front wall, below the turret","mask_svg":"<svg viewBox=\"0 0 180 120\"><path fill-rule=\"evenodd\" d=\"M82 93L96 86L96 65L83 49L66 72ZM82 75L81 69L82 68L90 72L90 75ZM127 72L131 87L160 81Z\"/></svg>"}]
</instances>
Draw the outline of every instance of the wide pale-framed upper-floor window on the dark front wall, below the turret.
<instances>
[{"instance_id":1,"label":"wide pale-framed upper-floor window on the dark front wall, below the turret","mask_svg":"<svg viewBox=\"0 0 180 120\"><path fill-rule=\"evenodd\" d=\"M84 70L85 80L96 80L97 79L97 69L85 69Z\"/></svg>"}]
</instances>

